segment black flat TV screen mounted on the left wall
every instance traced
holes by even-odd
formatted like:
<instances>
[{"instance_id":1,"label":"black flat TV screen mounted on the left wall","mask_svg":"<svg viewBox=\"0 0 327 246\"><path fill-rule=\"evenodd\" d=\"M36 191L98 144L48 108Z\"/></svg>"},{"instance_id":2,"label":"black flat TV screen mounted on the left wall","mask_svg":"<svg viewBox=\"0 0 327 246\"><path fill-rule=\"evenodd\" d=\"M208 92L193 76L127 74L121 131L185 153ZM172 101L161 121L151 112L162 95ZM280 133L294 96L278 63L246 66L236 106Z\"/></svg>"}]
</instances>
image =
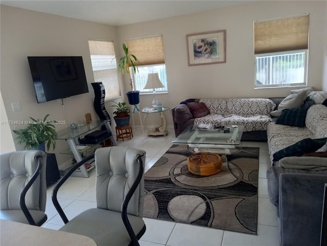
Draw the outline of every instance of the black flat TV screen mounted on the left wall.
<instances>
[{"instance_id":1,"label":"black flat TV screen mounted on the left wall","mask_svg":"<svg viewBox=\"0 0 327 246\"><path fill-rule=\"evenodd\" d=\"M88 92L81 56L28 57L28 61L38 103Z\"/></svg>"}]
</instances>

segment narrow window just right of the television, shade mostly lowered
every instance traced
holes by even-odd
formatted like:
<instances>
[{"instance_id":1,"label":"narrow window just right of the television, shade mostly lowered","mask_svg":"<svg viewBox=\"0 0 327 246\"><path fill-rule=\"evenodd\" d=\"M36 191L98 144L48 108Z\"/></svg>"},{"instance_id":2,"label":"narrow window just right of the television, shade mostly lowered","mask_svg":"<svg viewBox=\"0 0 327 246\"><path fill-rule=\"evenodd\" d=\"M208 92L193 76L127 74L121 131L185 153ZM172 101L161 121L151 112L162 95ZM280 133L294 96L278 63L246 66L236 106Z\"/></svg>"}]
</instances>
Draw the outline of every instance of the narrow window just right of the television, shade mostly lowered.
<instances>
[{"instance_id":1,"label":"narrow window just right of the television, shade mostly lowered","mask_svg":"<svg viewBox=\"0 0 327 246\"><path fill-rule=\"evenodd\" d=\"M105 101L121 96L118 70L112 41L89 40L92 70L95 82L102 82L105 88Z\"/></svg>"}]
</instances>

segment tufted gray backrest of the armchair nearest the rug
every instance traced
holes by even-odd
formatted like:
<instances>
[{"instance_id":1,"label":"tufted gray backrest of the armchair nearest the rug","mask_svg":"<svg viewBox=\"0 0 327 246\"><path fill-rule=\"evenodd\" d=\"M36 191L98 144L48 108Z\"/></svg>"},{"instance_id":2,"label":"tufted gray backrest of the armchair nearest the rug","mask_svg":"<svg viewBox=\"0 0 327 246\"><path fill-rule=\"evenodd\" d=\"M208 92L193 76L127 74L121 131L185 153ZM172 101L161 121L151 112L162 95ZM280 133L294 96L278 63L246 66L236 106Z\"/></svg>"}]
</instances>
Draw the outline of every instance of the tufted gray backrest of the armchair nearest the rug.
<instances>
[{"instance_id":1,"label":"tufted gray backrest of the armchair nearest the rug","mask_svg":"<svg viewBox=\"0 0 327 246\"><path fill-rule=\"evenodd\" d=\"M122 211L122 203L130 186L138 173L137 156L143 155L145 163L145 151L131 147L112 146L103 147L96 151L96 196L97 207L102 209ZM134 195L132 196L127 213L135 216L143 216L144 204L144 176L141 179Z\"/></svg>"}]
</instances>

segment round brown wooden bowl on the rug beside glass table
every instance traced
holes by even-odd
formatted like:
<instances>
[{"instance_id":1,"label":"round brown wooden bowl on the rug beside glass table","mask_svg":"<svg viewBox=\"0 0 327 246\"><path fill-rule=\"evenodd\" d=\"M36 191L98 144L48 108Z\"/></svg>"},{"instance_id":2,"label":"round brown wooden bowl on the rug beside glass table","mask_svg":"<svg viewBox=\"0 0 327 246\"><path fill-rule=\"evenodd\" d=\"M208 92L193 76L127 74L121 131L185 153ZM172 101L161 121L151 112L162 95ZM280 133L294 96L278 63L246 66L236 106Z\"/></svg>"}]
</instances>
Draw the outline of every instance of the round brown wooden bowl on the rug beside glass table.
<instances>
[{"instance_id":1,"label":"round brown wooden bowl on the rug beside glass table","mask_svg":"<svg viewBox=\"0 0 327 246\"><path fill-rule=\"evenodd\" d=\"M211 152L195 153L189 156L186 163L192 174L201 176L218 174L223 168L220 155Z\"/></svg>"}]
</instances>

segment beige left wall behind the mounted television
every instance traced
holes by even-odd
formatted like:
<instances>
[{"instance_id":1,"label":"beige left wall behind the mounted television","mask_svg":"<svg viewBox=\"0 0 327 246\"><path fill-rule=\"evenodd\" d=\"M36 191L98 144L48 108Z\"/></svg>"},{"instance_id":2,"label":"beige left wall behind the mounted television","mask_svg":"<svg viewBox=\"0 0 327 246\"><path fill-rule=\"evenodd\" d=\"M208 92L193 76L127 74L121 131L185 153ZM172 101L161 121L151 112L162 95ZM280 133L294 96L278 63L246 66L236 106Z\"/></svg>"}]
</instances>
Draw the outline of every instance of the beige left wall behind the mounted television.
<instances>
[{"instance_id":1,"label":"beige left wall behind the mounted television","mask_svg":"<svg viewBox=\"0 0 327 246\"><path fill-rule=\"evenodd\" d=\"M1 6L1 93L9 120L28 120L50 114L48 119L66 120L63 129L91 113L98 119L93 107L94 82L88 39L116 40L116 27L51 14ZM63 100L37 104L28 56L82 56L89 93ZM13 112L11 103L20 102L21 110ZM108 107L107 107L108 108ZM11 125L11 130L24 126ZM15 138L15 134L13 137ZM24 145L16 145L22 150ZM68 149L64 140L57 141L55 153L58 163L68 159L60 155ZM3 150L1 150L3 151ZM50 152L53 152L52 150Z\"/></svg>"}]
</instances>

